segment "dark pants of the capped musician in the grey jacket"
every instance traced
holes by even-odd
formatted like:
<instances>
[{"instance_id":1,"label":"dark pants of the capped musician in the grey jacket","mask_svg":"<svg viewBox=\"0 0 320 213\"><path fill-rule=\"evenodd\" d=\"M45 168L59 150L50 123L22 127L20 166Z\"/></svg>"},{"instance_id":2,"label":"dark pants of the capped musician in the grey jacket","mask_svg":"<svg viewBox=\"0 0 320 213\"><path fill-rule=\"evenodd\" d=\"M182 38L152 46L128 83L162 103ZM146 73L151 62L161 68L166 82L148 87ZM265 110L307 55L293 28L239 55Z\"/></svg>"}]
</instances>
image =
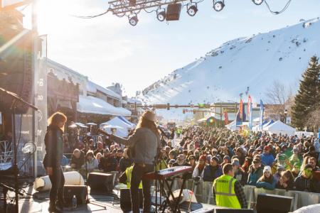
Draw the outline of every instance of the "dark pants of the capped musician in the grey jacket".
<instances>
[{"instance_id":1,"label":"dark pants of the capped musician in the grey jacket","mask_svg":"<svg viewBox=\"0 0 320 213\"><path fill-rule=\"evenodd\" d=\"M139 213L139 184L142 181L142 192L144 195L144 212L150 212L151 208L151 195L150 195L150 187L151 180L144 180L142 176L145 173L151 173L154 171L154 165L145 165L142 166L140 164L134 163L134 168L132 169L131 175L131 203L132 203L132 212ZM141 197L142 199L142 197Z\"/></svg>"}]
</instances>

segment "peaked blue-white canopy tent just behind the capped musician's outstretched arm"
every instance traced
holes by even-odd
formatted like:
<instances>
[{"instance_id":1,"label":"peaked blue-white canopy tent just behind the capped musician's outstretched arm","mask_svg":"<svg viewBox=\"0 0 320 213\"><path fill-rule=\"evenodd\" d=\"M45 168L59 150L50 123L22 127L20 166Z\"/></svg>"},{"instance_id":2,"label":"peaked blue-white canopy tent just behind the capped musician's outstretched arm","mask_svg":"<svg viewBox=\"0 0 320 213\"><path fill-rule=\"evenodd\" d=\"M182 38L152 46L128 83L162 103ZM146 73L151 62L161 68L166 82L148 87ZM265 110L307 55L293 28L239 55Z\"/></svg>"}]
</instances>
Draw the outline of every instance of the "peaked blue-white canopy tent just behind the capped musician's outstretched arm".
<instances>
[{"instance_id":1,"label":"peaked blue-white canopy tent just behind the capped musician's outstretched arm","mask_svg":"<svg viewBox=\"0 0 320 213\"><path fill-rule=\"evenodd\" d=\"M115 133L116 136L120 137L127 137L129 130L134 128L134 126L127 124L126 122L122 121L122 119L119 119L119 116L115 117L114 119L111 119L110 121L100 124L100 129L104 129L105 131L107 131L107 133L111 133L112 128L108 126L122 127L122 129L117 129Z\"/></svg>"}]
</instances>

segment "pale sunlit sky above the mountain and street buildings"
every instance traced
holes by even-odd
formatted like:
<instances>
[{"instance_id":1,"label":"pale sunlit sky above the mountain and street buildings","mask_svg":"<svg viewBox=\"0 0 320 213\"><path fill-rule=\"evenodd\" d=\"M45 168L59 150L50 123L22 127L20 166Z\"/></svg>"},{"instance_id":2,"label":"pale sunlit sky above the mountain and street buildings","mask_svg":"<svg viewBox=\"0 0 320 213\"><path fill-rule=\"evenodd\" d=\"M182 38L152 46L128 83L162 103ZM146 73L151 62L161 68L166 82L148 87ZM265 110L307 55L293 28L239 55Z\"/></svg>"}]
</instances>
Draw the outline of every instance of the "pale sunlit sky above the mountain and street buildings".
<instances>
[{"instance_id":1,"label":"pale sunlit sky above the mountain and street buildings","mask_svg":"<svg viewBox=\"0 0 320 213\"><path fill-rule=\"evenodd\" d=\"M287 0L268 2L277 11ZM225 0L225 9L220 12L213 11L212 5L210 0L199 3L193 17L183 8L180 21L169 23L159 22L155 13L142 11L139 23L132 27L127 18L111 13L92 19L70 16L105 11L107 1L40 0L38 30L48 34L50 59L103 87L120 82L126 94L133 96L225 41L320 16L319 0L292 0L287 11L277 16L265 4L256 6L251 0ZM26 26L30 26L30 7L24 13Z\"/></svg>"}]
</instances>

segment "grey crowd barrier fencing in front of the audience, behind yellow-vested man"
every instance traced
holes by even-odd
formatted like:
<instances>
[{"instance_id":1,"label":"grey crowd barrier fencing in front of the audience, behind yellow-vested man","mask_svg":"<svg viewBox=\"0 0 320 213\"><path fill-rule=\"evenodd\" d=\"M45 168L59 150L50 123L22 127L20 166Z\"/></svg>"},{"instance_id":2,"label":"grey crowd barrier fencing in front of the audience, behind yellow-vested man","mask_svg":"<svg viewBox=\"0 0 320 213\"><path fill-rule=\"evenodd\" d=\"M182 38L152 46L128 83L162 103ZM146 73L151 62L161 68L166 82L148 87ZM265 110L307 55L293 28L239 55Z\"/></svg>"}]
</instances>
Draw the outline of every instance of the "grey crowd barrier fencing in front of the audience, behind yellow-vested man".
<instances>
[{"instance_id":1,"label":"grey crowd barrier fencing in front of the audience, behind yellow-vested man","mask_svg":"<svg viewBox=\"0 0 320 213\"><path fill-rule=\"evenodd\" d=\"M182 180L174 180L173 190L178 190L181 187ZM193 180L187 180L185 189L192 190L198 202L213 204L212 195L213 182L194 182ZM287 190L265 190L257 188L251 185L245 185L245 196L247 198L248 208L255 208L257 203L258 194L270 194L270 195L282 195L287 197L293 197L292 211L305 207L311 204L320 203L320 193L312 192L300 192L300 191L287 191Z\"/></svg>"}]
</instances>

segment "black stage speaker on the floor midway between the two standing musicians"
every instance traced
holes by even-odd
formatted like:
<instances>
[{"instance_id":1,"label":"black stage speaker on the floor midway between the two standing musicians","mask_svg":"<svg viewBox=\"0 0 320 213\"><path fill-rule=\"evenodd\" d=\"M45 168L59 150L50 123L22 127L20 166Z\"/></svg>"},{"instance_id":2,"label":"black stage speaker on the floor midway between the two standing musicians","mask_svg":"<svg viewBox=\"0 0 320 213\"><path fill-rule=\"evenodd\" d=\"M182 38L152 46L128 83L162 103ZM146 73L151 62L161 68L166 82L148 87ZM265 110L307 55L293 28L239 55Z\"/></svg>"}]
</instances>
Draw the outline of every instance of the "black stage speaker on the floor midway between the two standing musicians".
<instances>
[{"instance_id":1,"label":"black stage speaker on the floor midway between the two standing musicians","mask_svg":"<svg viewBox=\"0 0 320 213\"><path fill-rule=\"evenodd\" d=\"M90 191L112 192L113 175L106 173L89 173L87 183L90 186Z\"/></svg>"}]
</instances>

